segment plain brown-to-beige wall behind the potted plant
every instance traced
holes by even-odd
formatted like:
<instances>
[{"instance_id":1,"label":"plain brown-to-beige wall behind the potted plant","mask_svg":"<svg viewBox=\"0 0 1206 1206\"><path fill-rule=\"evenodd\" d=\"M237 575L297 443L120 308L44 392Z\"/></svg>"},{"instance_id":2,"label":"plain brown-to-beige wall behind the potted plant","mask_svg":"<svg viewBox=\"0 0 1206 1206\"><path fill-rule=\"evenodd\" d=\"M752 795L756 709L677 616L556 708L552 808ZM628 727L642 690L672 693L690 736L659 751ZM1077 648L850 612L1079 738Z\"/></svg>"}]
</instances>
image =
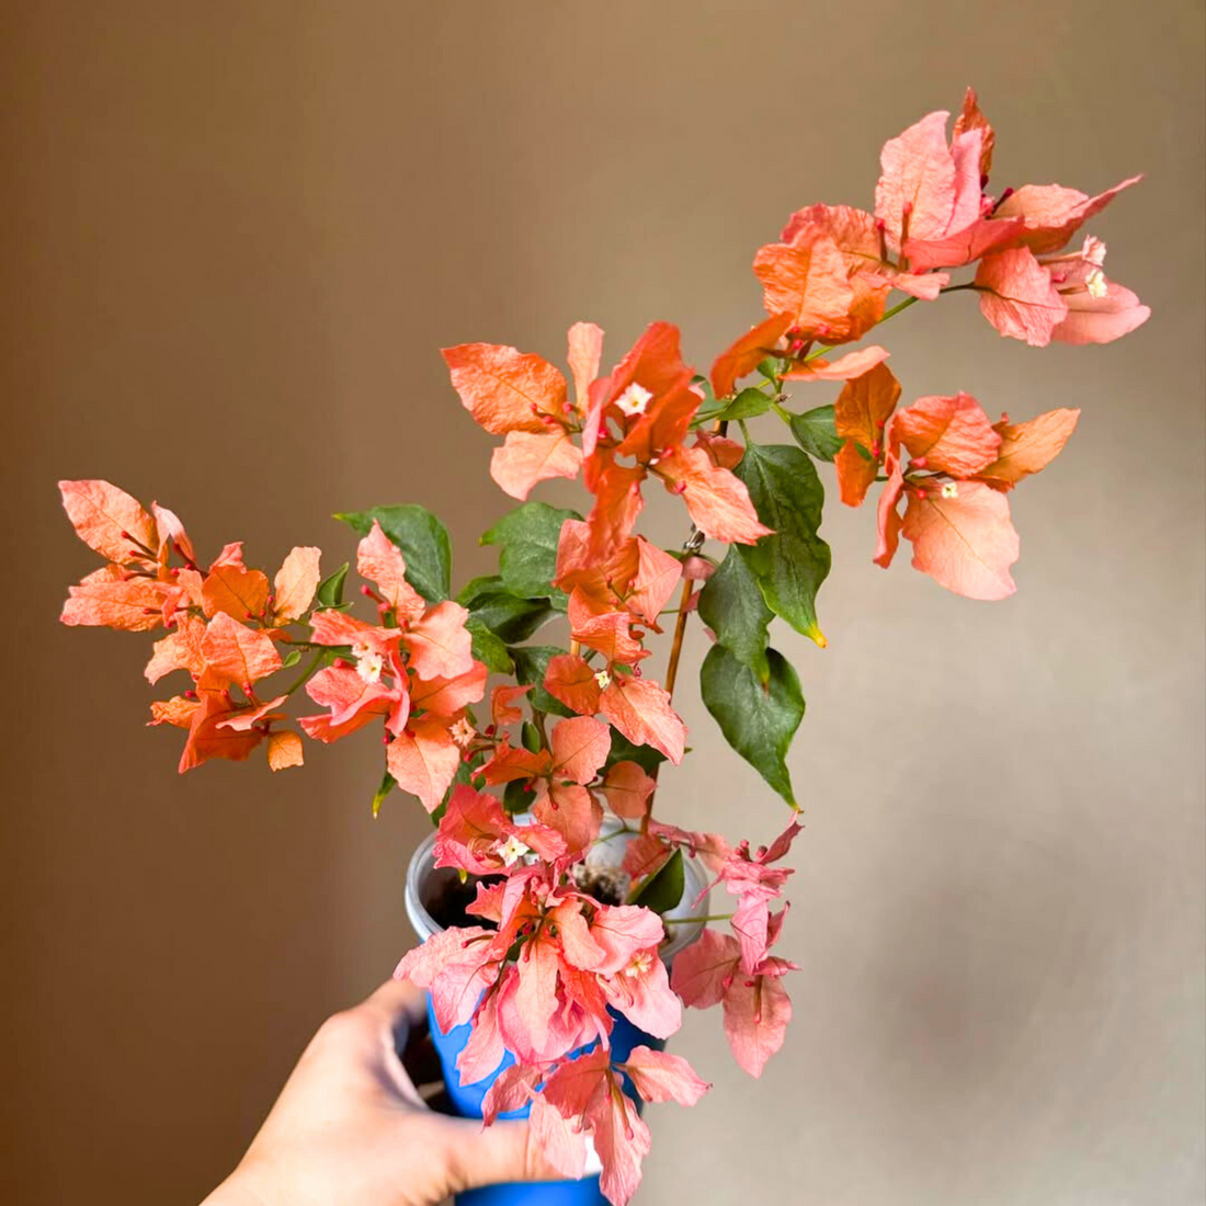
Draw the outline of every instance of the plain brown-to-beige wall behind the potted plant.
<instances>
[{"instance_id":1,"label":"plain brown-to-beige wall behind the potted plant","mask_svg":"<svg viewBox=\"0 0 1206 1206\"><path fill-rule=\"evenodd\" d=\"M1200 0L6 8L5 1202L204 1196L406 948L426 825L371 820L371 740L177 779L148 642L54 622L93 568L54 480L269 567L343 561L334 509L421 500L463 580L507 500L440 345L560 358L593 318L617 353L665 317L707 363L757 316L757 244L870 205L882 141L968 82L999 188L1148 172L1091 229L1155 316L1040 353L961 295L885 332L909 397L1082 428L1017 496L1003 604L876 569L870 510L831 504L831 648L783 638L797 1020L754 1083L689 1018L716 1090L656 1111L640 1200L1201 1200ZM683 698L662 808L765 839L780 806Z\"/></svg>"}]
</instances>

